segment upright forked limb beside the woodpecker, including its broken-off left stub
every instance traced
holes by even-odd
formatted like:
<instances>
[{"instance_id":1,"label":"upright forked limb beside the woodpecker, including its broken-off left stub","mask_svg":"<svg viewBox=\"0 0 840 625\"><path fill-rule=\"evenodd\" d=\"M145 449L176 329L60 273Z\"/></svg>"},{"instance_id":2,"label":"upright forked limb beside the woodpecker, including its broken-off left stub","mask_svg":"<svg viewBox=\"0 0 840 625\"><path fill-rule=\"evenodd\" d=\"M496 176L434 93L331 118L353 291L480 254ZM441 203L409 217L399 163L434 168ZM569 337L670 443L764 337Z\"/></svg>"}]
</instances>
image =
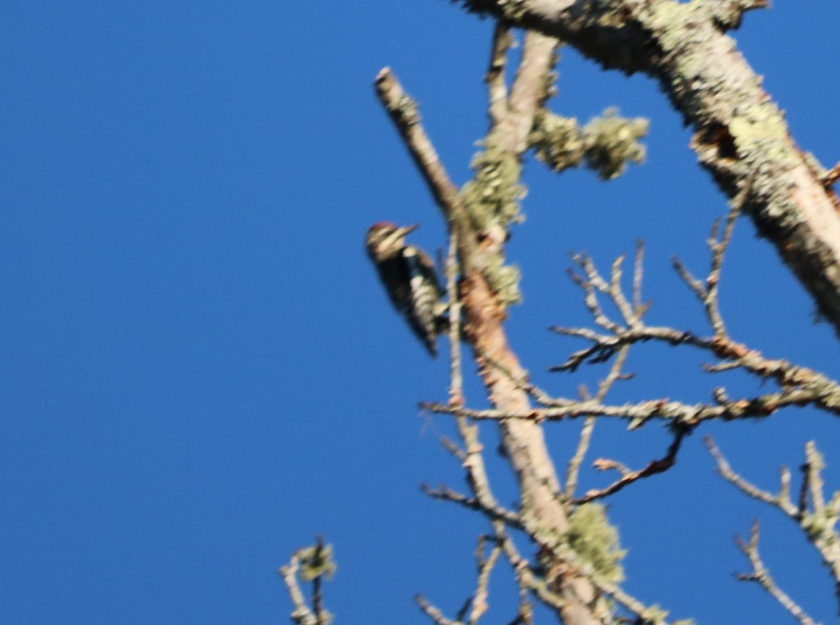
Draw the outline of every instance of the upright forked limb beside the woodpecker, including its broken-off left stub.
<instances>
[{"instance_id":1,"label":"upright forked limb beside the woodpecker, including its broken-off left stub","mask_svg":"<svg viewBox=\"0 0 840 625\"><path fill-rule=\"evenodd\" d=\"M504 47L499 36L497 31L494 52ZM491 402L505 412L528 410L529 395L514 381L527 376L507 344L502 325L505 306L516 300L515 270L504 265L504 244L522 195L518 186L520 160L528 149L533 119L548 94L556 45L556 40L542 34L526 34L522 60L505 100L506 111L502 114L501 107L496 106L491 113L485 150L474 162L475 177L460 192L449 181L423 131L416 103L390 70L381 71L376 79L376 92L457 241L462 276L458 300L465 319L464 337L473 348ZM501 93L498 81L491 86L496 95ZM501 373L495 363L512 375ZM527 422L500 423L500 429L502 445L519 482L521 513L528 533L546 533L554 536L551 544L559 543L568 519L542 429L537 423ZM475 454L472 461L476 465L467 467L470 480L481 475L476 470L480 454ZM603 622L589 607L596 591L588 580L569 575L563 586L564 622Z\"/></svg>"}]
</instances>

